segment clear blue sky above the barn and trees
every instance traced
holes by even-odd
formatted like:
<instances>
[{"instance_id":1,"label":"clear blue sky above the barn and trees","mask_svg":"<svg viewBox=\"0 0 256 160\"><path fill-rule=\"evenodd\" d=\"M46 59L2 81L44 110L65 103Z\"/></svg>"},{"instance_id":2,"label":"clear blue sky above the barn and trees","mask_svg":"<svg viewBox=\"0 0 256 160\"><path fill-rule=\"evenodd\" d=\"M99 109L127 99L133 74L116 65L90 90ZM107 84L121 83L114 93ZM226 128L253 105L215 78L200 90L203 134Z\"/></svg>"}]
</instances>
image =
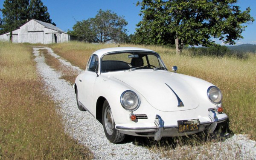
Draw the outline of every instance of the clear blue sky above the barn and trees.
<instances>
[{"instance_id":1,"label":"clear blue sky above the barn and trees","mask_svg":"<svg viewBox=\"0 0 256 160\"><path fill-rule=\"evenodd\" d=\"M0 0L0 8L3 8L3 2L4 0ZM72 30L76 20L87 20L90 17L95 17L99 9L110 9L119 16L124 16L125 20L128 21L126 26L128 34L134 34L136 24L142 19L138 15L140 6L136 7L137 0L42 0L42 2L47 6L52 22L64 31ZM240 6L242 11L250 6L250 14L256 20L255 0L238 0L236 5ZM247 24L242 36L244 39L236 41L236 45L256 44L256 21ZM216 42L222 44L219 40L216 40Z\"/></svg>"}]
</instances>

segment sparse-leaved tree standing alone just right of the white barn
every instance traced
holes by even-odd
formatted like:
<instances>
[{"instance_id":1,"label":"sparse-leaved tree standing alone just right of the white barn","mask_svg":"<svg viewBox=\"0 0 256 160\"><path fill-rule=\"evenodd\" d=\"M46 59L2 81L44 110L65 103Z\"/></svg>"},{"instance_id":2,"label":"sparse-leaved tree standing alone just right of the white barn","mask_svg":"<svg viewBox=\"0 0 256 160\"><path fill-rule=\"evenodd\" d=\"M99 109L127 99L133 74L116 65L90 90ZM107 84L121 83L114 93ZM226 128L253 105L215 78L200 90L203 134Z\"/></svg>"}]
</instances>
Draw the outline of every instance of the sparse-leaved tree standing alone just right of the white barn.
<instances>
[{"instance_id":1,"label":"sparse-leaved tree standing alone just right of the white barn","mask_svg":"<svg viewBox=\"0 0 256 160\"><path fill-rule=\"evenodd\" d=\"M94 18L77 21L69 33L87 42L105 43L109 40L122 42L127 21L111 10L98 11Z\"/></svg>"}]
</instances>

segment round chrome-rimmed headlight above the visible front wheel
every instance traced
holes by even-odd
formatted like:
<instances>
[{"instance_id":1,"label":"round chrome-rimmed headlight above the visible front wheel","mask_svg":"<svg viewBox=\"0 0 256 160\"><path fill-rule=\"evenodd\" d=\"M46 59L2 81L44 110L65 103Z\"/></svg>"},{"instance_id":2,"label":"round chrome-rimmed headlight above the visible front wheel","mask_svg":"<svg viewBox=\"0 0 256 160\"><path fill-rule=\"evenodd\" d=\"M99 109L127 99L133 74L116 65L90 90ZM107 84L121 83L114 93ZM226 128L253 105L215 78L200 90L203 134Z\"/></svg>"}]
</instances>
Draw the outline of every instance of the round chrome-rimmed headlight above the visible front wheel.
<instances>
[{"instance_id":1,"label":"round chrome-rimmed headlight above the visible front wheel","mask_svg":"<svg viewBox=\"0 0 256 160\"><path fill-rule=\"evenodd\" d=\"M140 106L140 99L134 91L124 91L120 97L124 109L135 111Z\"/></svg>"}]
</instances>

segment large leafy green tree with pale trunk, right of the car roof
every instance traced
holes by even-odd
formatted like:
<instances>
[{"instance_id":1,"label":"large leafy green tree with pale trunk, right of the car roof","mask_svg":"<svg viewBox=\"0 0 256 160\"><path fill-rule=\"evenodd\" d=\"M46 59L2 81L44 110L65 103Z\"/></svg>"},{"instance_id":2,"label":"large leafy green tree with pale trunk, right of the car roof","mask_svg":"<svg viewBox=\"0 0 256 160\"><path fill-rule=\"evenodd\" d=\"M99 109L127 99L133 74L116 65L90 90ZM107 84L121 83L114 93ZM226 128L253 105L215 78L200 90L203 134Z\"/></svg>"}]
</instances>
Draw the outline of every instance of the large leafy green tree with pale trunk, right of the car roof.
<instances>
[{"instance_id":1,"label":"large leafy green tree with pale trunk, right of the car roof","mask_svg":"<svg viewBox=\"0 0 256 160\"><path fill-rule=\"evenodd\" d=\"M184 44L215 46L213 38L235 44L253 22L250 7L240 11L237 0L142 0L143 20L137 24L139 42L162 44L175 39L176 53L181 54ZM156 33L158 32L158 33ZM144 34L144 35L143 35ZM148 40L148 38L154 38ZM171 42L170 42L171 43Z\"/></svg>"}]
</instances>

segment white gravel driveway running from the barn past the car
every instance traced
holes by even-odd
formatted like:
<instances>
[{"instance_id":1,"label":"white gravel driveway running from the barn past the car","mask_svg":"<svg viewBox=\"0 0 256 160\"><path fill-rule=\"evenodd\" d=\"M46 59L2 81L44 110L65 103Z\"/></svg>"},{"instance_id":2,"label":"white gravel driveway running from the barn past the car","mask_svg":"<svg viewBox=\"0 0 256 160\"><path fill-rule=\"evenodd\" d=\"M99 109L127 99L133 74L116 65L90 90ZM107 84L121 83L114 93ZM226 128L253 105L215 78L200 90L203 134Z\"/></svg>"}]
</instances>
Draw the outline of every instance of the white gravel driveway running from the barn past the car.
<instances>
[{"instance_id":1,"label":"white gravel driveway running from the barn past the car","mask_svg":"<svg viewBox=\"0 0 256 160\"><path fill-rule=\"evenodd\" d=\"M79 111L76 105L74 89L66 80L59 79L61 73L47 66L44 62L43 54L39 54L39 49L47 49L49 54L60 60L63 65L72 67L79 72L82 70L61 59L50 48L33 47L38 73L43 77L46 88L54 101L59 104L67 133L87 146L95 159L166 159L161 157L161 153L151 151L147 147L134 145L135 142L126 142L124 144L110 143L105 137L102 124L87 111ZM235 134L224 142L194 148L181 146L164 152L166 154L168 154L167 152L173 153L171 157L176 159L180 151L184 149L196 155L195 159L209 159L209 155L213 156L210 159L256 159L256 142L242 134ZM207 150L208 156L204 154L204 150Z\"/></svg>"}]
</instances>

